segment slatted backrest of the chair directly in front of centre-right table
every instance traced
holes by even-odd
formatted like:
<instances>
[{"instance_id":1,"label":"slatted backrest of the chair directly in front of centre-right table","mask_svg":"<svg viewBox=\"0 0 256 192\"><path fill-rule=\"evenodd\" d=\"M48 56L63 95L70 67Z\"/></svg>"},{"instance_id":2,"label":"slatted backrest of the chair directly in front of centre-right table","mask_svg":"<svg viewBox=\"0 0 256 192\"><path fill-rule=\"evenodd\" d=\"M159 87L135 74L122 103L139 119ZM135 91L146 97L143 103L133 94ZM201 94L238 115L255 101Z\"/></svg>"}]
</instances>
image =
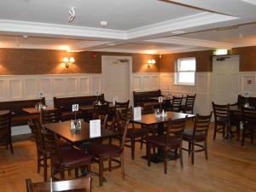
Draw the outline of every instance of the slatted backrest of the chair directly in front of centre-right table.
<instances>
[{"instance_id":1,"label":"slatted backrest of the chair directly in front of centre-right table","mask_svg":"<svg viewBox=\"0 0 256 192\"><path fill-rule=\"evenodd\" d=\"M183 131L185 129L187 119L188 116L184 119L169 119L166 129L166 143L168 143L169 136L177 137L177 140L179 141L183 140Z\"/></svg>"}]
</instances>

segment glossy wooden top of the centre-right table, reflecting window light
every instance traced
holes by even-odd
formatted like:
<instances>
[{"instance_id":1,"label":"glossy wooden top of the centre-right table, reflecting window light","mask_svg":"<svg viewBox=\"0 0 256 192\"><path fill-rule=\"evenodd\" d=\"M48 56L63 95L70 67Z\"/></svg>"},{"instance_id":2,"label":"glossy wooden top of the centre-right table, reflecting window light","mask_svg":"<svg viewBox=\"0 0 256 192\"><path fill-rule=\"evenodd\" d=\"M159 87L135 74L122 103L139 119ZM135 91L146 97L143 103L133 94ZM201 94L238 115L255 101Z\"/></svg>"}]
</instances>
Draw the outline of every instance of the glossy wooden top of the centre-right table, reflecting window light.
<instances>
[{"instance_id":1,"label":"glossy wooden top of the centre-right table, reflecting window light","mask_svg":"<svg viewBox=\"0 0 256 192\"><path fill-rule=\"evenodd\" d=\"M141 125L155 125L160 123L166 123L169 119L177 120L184 119L188 115L188 118L194 118L195 114L188 113L177 113L177 112L167 112L167 116L164 118L157 118L154 113L143 114L142 119L134 120L131 119L131 122L141 124Z\"/></svg>"}]
</instances>

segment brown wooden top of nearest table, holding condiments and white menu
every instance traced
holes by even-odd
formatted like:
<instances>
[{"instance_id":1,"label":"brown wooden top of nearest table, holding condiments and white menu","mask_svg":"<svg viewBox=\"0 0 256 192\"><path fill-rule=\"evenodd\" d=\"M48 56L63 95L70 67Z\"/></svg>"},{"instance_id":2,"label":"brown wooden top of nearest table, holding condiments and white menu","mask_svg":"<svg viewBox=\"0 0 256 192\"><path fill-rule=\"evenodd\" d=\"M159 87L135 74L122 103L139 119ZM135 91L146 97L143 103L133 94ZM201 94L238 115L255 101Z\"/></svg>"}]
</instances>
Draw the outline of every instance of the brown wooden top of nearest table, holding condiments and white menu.
<instances>
[{"instance_id":1,"label":"brown wooden top of nearest table, holding condiments and white menu","mask_svg":"<svg viewBox=\"0 0 256 192\"><path fill-rule=\"evenodd\" d=\"M47 130L55 132L59 137L66 139L70 143L83 143L96 138L108 138L119 135L119 133L103 129L101 137L90 137L90 124L82 122L80 130L71 130L71 121L64 121L60 123L51 123L43 125Z\"/></svg>"}]
</instances>

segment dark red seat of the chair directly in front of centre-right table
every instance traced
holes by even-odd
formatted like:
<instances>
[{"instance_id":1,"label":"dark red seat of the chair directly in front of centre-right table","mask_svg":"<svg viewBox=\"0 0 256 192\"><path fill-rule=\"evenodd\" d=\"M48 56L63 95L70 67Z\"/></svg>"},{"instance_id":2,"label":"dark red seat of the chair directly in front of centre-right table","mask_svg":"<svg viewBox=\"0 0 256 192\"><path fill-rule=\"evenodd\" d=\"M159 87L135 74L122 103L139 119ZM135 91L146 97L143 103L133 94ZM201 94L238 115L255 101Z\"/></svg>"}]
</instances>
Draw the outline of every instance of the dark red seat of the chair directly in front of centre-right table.
<instances>
[{"instance_id":1,"label":"dark red seat of the chair directly in front of centre-right table","mask_svg":"<svg viewBox=\"0 0 256 192\"><path fill-rule=\"evenodd\" d=\"M147 138L148 143L154 144L156 146L164 147L167 146L169 148L178 148L180 144L180 140L175 136L169 136L166 143L166 136L151 136Z\"/></svg>"}]
</instances>

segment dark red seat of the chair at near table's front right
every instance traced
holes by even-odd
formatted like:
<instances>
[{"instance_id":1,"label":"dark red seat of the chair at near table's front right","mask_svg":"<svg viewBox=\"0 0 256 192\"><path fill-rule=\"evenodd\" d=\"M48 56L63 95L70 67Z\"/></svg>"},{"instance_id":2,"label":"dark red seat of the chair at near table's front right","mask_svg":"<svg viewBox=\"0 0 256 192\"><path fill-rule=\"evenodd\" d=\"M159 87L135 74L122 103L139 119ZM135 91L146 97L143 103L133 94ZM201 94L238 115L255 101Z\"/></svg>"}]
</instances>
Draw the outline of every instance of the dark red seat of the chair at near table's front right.
<instances>
[{"instance_id":1,"label":"dark red seat of the chair at near table's front right","mask_svg":"<svg viewBox=\"0 0 256 192\"><path fill-rule=\"evenodd\" d=\"M121 153L118 146L113 144L92 144L88 148L89 154L94 154L96 157L103 157L104 159L115 157Z\"/></svg>"}]
</instances>

